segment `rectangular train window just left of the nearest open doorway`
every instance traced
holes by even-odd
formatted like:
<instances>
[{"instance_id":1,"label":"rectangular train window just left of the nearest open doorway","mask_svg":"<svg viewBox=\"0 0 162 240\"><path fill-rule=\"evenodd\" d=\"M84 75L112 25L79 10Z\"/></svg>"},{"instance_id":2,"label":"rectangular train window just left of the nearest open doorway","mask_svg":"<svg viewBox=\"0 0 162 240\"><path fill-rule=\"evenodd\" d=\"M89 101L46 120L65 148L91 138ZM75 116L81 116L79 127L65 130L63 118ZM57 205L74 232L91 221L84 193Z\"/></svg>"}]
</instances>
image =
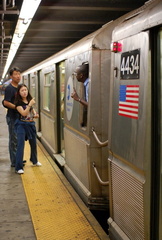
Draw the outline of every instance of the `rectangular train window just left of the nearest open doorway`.
<instances>
[{"instance_id":1,"label":"rectangular train window just left of the nearest open doorway","mask_svg":"<svg viewBox=\"0 0 162 240\"><path fill-rule=\"evenodd\" d=\"M46 111L50 111L50 87L52 75L54 75L54 72L49 72L44 75L43 108Z\"/></svg>"}]
</instances>

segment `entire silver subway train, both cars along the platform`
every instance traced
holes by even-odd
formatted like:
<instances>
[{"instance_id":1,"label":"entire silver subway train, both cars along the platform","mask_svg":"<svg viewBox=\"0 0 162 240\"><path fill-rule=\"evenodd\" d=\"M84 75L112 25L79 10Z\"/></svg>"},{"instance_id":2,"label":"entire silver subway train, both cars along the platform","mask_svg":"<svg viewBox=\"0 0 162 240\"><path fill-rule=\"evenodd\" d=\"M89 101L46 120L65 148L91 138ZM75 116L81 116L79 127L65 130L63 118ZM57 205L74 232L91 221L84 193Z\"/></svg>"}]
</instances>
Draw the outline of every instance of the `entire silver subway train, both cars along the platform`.
<instances>
[{"instance_id":1,"label":"entire silver subway train, both cars along the platform","mask_svg":"<svg viewBox=\"0 0 162 240\"><path fill-rule=\"evenodd\" d=\"M75 69L89 64L88 109ZM111 240L162 239L162 1L142 7L22 73L37 135ZM86 120L84 120L86 118Z\"/></svg>"}]
</instances>

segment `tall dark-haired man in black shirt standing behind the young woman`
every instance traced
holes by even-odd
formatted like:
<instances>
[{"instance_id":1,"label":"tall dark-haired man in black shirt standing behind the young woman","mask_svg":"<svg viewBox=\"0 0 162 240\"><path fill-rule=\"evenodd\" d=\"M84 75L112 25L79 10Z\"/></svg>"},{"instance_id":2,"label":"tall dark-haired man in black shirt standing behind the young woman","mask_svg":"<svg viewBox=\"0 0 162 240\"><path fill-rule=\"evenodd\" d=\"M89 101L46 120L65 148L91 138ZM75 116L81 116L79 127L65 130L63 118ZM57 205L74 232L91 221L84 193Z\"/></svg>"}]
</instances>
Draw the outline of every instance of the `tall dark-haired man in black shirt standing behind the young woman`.
<instances>
[{"instance_id":1,"label":"tall dark-haired man in black shirt standing behind the young woman","mask_svg":"<svg viewBox=\"0 0 162 240\"><path fill-rule=\"evenodd\" d=\"M10 154L10 161L11 167L15 167L16 162L16 150L17 150L17 137L14 132L14 123L15 120L18 118L18 113L15 110L15 94L17 92L18 84L21 80L21 71L17 67L13 67L9 71L11 82L5 88L4 92L4 99L2 104L5 108L7 108L6 114L6 122L8 125L8 132L9 132L9 154Z\"/></svg>"}]
</instances>

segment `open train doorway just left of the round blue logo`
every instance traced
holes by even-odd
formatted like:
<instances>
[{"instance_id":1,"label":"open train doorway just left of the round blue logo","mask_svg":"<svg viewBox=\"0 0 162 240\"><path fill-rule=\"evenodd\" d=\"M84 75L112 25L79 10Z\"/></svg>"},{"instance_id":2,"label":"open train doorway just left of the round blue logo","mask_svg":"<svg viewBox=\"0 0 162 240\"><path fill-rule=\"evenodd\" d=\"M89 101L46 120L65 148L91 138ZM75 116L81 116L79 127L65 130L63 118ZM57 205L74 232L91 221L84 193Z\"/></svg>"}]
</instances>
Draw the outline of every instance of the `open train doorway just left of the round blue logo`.
<instances>
[{"instance_id":1,"label":"open train doorway just left of the round blue logo","mask_svg":"<svg viewBox=\"0 0 162 240\"><path fill-rule=\"evenodd\" d=\"M58 138L58 153L65 158L64 147L64 85L65 85L65 62L60 62L56 65L57 79L57 138ZM55 154L56 159L61 162L60 156ZM59 159L58 159L59 158ZM63 159L62 159L63 161Z\"/></svg>"}]
</instances>

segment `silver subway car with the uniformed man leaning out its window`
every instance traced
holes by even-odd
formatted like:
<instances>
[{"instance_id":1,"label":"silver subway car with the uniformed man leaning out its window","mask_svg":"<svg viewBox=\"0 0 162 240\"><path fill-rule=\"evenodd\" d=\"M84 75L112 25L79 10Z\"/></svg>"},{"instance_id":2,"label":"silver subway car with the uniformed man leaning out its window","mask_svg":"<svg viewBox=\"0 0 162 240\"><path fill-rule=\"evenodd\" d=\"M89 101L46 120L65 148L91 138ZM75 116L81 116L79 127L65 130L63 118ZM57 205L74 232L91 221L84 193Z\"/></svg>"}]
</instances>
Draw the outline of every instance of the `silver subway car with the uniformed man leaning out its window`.
<instances>
[{"instance_id":1,"label":"silver subway car with the uniformed man leaning out its window","mask_svg":"<svg viewBox=\"0 0 162 240\"><path fill-rule=\"evenodd\" d=\"M38 137L91 209L108 209L110 45L119 21L104 25L23 73L38 102ZM89 65L90 79L86 111L71 97L75 88L84 98L83 84L74 74L83 63Z\"/></svg>"}]
</instances>

